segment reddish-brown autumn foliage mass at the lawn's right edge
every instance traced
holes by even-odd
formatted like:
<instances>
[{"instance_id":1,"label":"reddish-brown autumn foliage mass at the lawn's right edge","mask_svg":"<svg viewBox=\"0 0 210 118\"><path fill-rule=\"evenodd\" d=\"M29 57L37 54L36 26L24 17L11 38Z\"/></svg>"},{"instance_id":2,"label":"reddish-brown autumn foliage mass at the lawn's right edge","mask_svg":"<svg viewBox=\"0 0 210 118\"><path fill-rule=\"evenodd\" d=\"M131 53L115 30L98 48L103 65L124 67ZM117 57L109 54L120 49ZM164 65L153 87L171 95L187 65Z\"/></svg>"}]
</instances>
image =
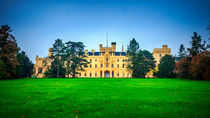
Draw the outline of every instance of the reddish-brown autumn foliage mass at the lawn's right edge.
<instances>
[{"instance_id":1,"label":"reddish-brown autumn foliage mass at the lawn's right edge","mask_svg":"<svg viewBox=\"0 0 210 118\"><path fill-rule=\"evenodd\" d=\"M210 79L210 52L202 52L192 58L183 58L176 63L176 72L179 77L197 80Z\"/></svg>"}]
</instances>

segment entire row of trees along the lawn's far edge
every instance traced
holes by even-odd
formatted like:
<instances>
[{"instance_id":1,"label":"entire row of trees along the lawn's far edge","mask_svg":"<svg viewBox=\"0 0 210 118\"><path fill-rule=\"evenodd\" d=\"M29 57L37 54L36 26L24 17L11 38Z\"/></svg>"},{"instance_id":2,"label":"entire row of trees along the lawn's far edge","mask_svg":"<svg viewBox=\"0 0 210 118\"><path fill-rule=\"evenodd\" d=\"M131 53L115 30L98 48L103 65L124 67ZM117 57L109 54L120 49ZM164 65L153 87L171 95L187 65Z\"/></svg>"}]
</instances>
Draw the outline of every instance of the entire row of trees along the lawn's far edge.
<instances>
[{"instance_id":1,"label":"entire row of trees along the lawn's far edge","mask_svg":"<svg viewBox=\"0 0 210 118\"><path fill-rule=\"evenodd\" d=\"M18 47L11 32L8 25L2 25L0 28L0 79L31 77L34 64ZM51 61L43 62L43 68L50 65L44 72L45 77L77 77L90 63L86 60L84 47L82 42L63 43L62 39L56 39L51 48L52 54L47 57ZM126 68L131 70L133 78L145 78L145 75L152 71L154 77L158 78L209 79L209 47L202 41L201 36L194 32L187 50L183 44L180 45L177 62L172 55L165 55L156 67L152 53L141 50L139 43L133 38L127 47Z\"/></svg>"}]
</instances>

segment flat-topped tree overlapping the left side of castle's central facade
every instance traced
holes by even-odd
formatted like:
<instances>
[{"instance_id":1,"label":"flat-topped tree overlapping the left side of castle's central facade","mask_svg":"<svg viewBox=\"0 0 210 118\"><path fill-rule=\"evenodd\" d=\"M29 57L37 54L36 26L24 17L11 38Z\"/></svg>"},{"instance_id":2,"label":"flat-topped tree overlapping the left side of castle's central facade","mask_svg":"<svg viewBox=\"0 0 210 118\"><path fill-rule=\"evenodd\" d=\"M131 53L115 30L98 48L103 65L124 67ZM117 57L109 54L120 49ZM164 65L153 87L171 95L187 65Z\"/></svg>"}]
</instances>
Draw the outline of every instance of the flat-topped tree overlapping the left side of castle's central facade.
<instances>
[{"instance_id":1,"label":"flat-topped tree overlapping the left side of castle's central facade","mask_svg":"<svg viewBox=\"0 0 210 118\"><path fill-rule=\"evenodd\" d=\"M67 75L75 78L79 71L84 71L83 67L87 67L89 62L85 59L84 45L82 42L66 42L65 46L65 65Z\"/></svg>"}]
</instances>

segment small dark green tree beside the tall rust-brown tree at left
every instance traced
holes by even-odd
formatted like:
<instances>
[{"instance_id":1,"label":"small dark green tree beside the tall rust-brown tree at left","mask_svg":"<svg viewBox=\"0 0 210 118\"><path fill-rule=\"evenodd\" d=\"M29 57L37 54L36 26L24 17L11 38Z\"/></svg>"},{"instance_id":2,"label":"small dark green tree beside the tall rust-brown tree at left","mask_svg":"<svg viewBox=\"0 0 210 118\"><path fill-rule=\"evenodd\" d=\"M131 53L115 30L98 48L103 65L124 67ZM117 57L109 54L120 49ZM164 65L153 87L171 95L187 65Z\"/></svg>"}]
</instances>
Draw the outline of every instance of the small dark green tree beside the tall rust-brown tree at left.
<instances>
[{"instance_id":1,"label":"small dark green tree beside the tall rust-brown tree at left","mask_svg":"<svg viewBox=\"0 0 210 118\"><path fill-rule=\"evenodd\" d=\"M16 77L31 77L34 64L24 51L17 54L19 65L16 67Z\"/></svg>"}]
</instances>

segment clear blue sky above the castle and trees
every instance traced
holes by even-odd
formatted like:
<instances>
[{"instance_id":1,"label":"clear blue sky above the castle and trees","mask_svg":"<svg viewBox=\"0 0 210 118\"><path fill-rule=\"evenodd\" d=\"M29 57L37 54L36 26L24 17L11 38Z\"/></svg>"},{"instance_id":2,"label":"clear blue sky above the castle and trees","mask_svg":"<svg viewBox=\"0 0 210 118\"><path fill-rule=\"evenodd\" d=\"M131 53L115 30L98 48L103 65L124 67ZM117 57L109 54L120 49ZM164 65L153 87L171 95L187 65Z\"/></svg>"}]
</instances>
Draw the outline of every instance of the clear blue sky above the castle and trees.
<instances>
[{"instance_id":1,"label":"clear blue sky above the castle and trees","mask_svg":"<svg viewBox=\"0 0 210 118\"><path fill-rule=\"evenodd\" d=\"M167 44L175 55L190 46L193 32L209 44L210 0L0 0L0 25L9 25L18 46L35 62L55 39L125 49L135 38L152 52Z\"/></svg>"}]
</instances>

